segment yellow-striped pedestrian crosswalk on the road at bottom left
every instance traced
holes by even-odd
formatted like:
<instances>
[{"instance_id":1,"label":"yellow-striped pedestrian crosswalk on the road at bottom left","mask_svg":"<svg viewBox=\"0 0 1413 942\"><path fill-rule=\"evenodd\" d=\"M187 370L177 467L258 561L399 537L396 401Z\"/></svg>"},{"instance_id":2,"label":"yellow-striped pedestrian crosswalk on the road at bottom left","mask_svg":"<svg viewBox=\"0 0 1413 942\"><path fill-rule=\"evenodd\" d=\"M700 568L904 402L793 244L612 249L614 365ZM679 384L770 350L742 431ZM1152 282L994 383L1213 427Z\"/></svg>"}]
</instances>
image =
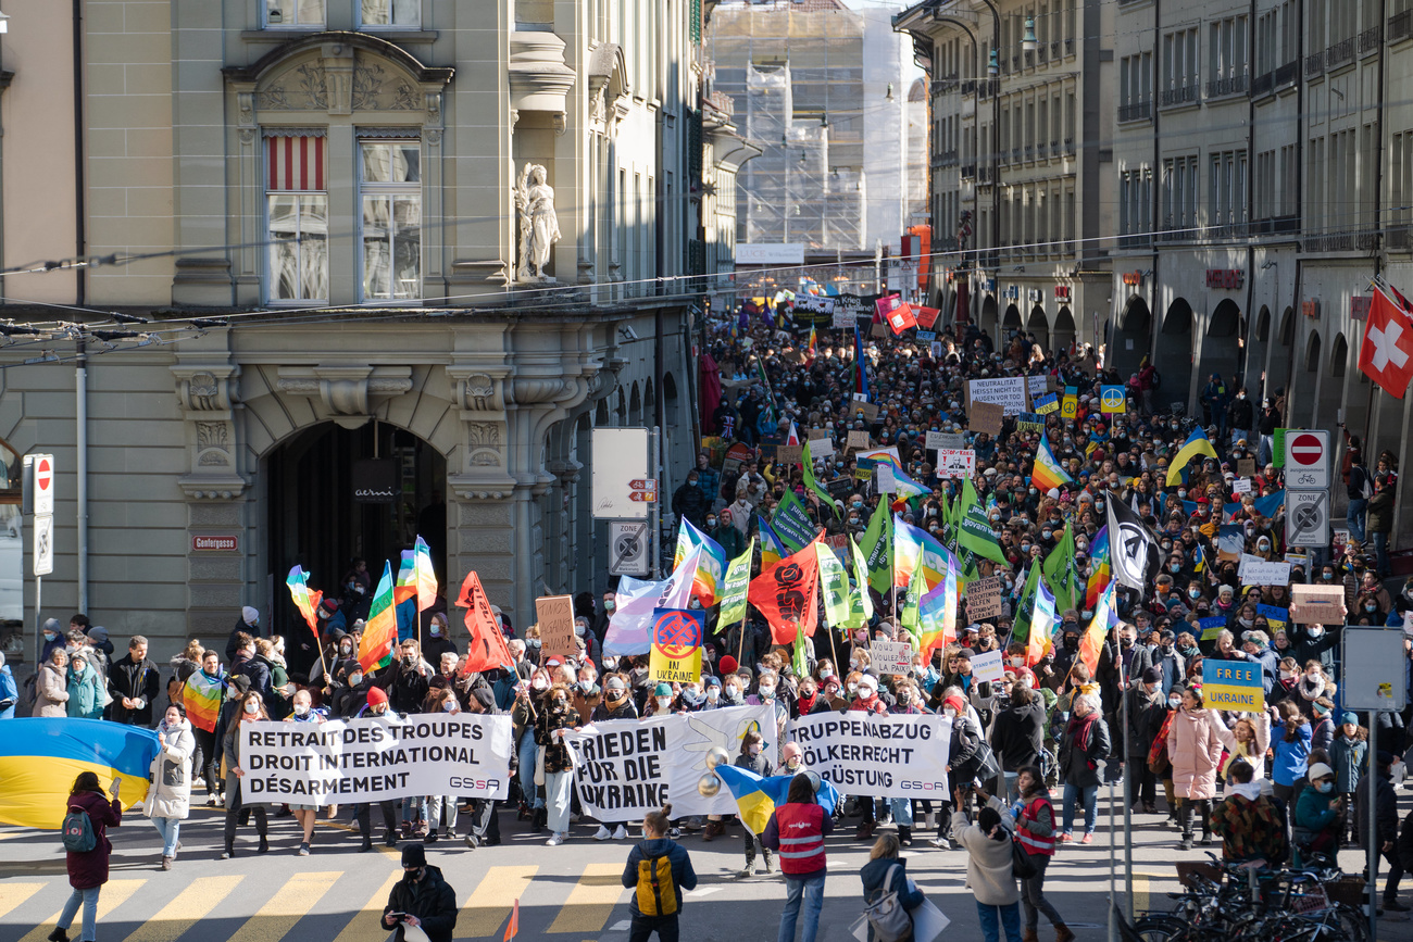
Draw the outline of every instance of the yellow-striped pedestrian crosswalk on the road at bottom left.
<instances>
[{"instance_id":1,"label":"yellow-striped pedestrian crosswalk on the road at bottom left","mask_svg":"<svg viewBox=\"0 0 1413 942\"><path fill-rule=\"evenodd\" d=\"M387 938L380 917L389 893L403 876L396 854L359 856L360 866L349 870L335 869L332 859L300 860L302 866L318 869L300 870L300 863L271 856L240 861L243 873L226 876L184 878L178 860L171 873L130 877L117 876L120 869L131 870L114 857L114 876L99 897L99 934L122 942L208 938L383 942ZM374 860L376 866L363 866ZM521 938L550 935L568 941L602 934L612 938L615 926L627 917L629 891L620 881L622 863L483 867L469 860L432 861L445 864L444 876L456 887L461 901L456 942L500 939L517 900ZM65 876L0 880L0 939L45 942L69 891ZM615 910L617 919L612 919ZM79 938L81 921L82 912L69 928L71 938Z\"/></svg>"}]
</instances>

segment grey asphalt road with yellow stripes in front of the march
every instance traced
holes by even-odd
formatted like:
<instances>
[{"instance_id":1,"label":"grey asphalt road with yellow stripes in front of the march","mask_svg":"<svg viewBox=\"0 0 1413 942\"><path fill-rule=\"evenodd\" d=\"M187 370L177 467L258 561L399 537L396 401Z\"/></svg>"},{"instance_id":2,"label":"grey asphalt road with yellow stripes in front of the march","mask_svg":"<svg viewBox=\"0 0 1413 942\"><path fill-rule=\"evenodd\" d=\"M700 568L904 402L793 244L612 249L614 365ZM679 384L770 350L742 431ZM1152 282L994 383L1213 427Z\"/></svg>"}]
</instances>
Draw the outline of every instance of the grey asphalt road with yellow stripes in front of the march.
<instances>
[{"instance_id":1,"label":"grey asphalt road with yellow stripes in front of the march","mask_svg":"<svg viewBox=\"0 0 1413 942\"><path fill-rule=\"evenodd\" d=\"M1058 802L1057 802L1058 804ZM1400 792L1409 804L1409 792ZM346 812L343 813L346 821ZM374 812L374 821L377 813ZM1204 859L1202 847L1176 850L1177 832L1161 816L1135 818L1135 907L1166 908L1177 888L1174 860ZM102 942L281 942L281 939L382 942L377 917L400 873L398 852L377 843L357 853L357 835L346 823L319 821L314 853L295 854L300 836L292 818L271 821L271 849L256 854L254 828L240 830L237 856L220 860L222 812L196 806L182 826L182 852L171 871L161 871L155 829L129 812L112 830L112 878L99 905ZM465 829L465 818L462 829ZM427 846L428 859L456 890L461 915L456 939L500 939L510 905L520 900L521 939L564 938L626 942L629 891L619 877L630 842L595 842L593 826L579 825L561 847L545 847L513 811L500 818L504 843L468 850L461 842ZM820 939L849 939L862 910L858 870L870 842L853 840L853 822L828 842L829 877ZM1122 826L1122 818L1119 818ZM637 833L637 829L633 829ZM909 874L952 925L944 939L979 939L972 895L965 890L966 854L926 846L930 832L904 850ZM1108 802L1101 792L1095 843L1061 849L1047 877L1047 895L1082 942L1105 939L1109 893ZM682 939L742 942L774 939L784 883L777 876L739 878L743 864L740 828L704 843L684 835L699 876L682 914ZM1218 850L1219 847L1212 847ZM1358 870L1347 852L1347 870ZM759 863L759 861L757 861ZM1122 893L1122 849L1119 888ZM64 852L55 832L0 829L0 942L42 942L68 897ZM1405 901L1409 894L1405 893ZM1379 938L1413 938L1409 922L1383 922ZM78 938L78 925L69 932ZM1040 938L1054 938L1041 917Z\"/></svg>"}]
</instances>

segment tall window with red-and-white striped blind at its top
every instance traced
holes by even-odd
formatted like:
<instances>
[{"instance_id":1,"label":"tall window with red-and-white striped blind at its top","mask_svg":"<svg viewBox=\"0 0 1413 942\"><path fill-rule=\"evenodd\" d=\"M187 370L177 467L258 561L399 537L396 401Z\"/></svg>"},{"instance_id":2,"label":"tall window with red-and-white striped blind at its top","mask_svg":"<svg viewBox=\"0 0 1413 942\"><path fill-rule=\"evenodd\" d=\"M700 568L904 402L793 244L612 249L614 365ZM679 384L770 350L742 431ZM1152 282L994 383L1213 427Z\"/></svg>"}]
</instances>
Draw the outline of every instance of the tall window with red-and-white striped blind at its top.
<instances>
[{"instance_id":1,"label":"tall window with red-and-white striped blind at its top","mask_svg":"<svg viewBox=\"0 0 1413 942\"><path fill-rule=\"evenodd\" d=\"M266 299L329 297L328 161L322 136L266 140Z\"/></svg>"}]
</instances>

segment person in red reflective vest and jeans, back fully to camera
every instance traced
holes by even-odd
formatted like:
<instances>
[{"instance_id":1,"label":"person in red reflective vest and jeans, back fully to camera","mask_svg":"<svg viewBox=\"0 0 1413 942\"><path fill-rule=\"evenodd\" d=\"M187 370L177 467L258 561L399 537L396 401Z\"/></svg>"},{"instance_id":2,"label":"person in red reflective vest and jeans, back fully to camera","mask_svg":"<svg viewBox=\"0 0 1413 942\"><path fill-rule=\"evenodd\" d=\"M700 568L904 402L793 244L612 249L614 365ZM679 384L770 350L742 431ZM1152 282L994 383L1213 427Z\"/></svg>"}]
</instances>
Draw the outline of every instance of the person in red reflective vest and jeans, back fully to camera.
<instances>
[{"instance_id":1,"label":"person in red reflective vest and jeans, back fully to camera","mask_svg":"<svg viewBox=\"0 0 1413 942\"><path fill-rule=\"evenodd\" d=\"M766 823L760 843L780 854L780 873L786 878L786 907L780 911L779 942L794 942L800 904L804 902L801 942L814 942L824 908L824 837L834 830L834 819L814 799L814 782L800 773L790 780L786 804L776 808Z\"/></svg>"}]
</instances>

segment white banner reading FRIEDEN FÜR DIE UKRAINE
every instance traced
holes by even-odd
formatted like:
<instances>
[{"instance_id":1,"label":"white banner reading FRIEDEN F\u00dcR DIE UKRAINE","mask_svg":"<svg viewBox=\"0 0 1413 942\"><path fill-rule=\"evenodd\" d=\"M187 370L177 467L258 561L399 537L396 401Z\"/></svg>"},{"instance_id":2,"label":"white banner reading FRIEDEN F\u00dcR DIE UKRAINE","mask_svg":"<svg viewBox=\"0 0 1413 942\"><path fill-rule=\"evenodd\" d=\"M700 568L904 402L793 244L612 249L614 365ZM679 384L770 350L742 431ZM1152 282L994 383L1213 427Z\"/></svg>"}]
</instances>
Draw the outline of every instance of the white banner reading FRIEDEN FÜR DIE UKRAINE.
<instances>
[{"instance_id":1,"label":"white banner reading FRIEDEN F\u00dcR DIE UKRAINE","mask_svg":"<svg viewBox=\"0 0 1413 942\"><path fill-rule=\"evenodd\" d=\"M585 813L601 822L642 821L649 811L673 802L673 816L733 815L731 791L705 798L697 784L711 771L706 753L740 754L750 730L764 737L764 754L777 756L773 706L728 706L699 713L606 720L567 733L574 777Z\"/></svg>"}]
</instances>

